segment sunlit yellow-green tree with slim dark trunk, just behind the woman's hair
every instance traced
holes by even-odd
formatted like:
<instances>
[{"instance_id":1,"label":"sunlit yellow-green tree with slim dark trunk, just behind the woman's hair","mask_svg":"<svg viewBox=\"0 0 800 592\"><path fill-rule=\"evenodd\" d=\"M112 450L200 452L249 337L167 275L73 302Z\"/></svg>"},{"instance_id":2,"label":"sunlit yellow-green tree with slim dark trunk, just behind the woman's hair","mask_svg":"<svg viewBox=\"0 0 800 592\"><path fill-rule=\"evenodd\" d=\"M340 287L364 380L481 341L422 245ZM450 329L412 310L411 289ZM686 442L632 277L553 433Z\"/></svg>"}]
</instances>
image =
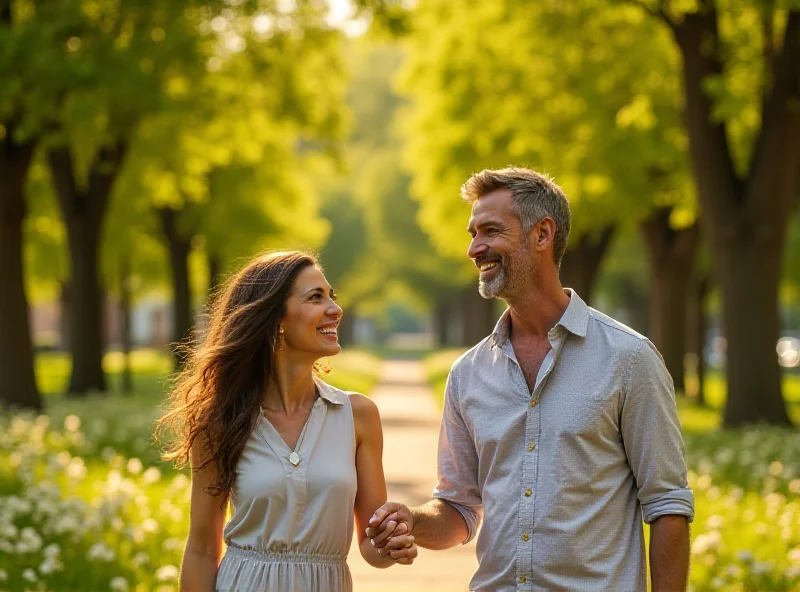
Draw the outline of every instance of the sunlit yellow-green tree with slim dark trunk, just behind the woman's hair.
<instances>
[{"instance_id":1,"label":"sunlit yellow-green tree with slim dark trunk, just behind the woman's hair","mask_svg":"<svg viewBox=\"0 0 800 592\"><path fill-rule=\"evenodd\" d=\"M306 8L219 17L217 33L239 43L209 57L188 104L143 128L137 167L150 181L141 194L151 196L169 255L176 343L194 325L188 260L197 244L216 276L265 237L311 245L325 232L299 163L340 134L339 35Z\"/></svg>"}]
</instances>

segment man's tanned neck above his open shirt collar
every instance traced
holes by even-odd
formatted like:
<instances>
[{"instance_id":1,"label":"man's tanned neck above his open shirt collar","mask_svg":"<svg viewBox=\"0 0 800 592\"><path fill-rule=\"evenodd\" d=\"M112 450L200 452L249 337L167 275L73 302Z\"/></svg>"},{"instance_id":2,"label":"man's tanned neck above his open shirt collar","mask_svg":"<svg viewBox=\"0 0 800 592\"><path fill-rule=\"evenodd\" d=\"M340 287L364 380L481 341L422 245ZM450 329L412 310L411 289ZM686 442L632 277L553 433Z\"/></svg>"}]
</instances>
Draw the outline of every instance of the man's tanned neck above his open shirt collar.
<instances>
[{"instance_id":1,"label":"man's tanned neck above his open shirt collar","mask_svg":"<svg viewBox=\"0 0 800 592\"><path fill-rule=\"evenodd\" d=\"M556 283L549 289L533 289L523 298L508 300L512 334L521 339L546 339L564 316L569 299L561 284Z\"/></svg>"}]
</instances>

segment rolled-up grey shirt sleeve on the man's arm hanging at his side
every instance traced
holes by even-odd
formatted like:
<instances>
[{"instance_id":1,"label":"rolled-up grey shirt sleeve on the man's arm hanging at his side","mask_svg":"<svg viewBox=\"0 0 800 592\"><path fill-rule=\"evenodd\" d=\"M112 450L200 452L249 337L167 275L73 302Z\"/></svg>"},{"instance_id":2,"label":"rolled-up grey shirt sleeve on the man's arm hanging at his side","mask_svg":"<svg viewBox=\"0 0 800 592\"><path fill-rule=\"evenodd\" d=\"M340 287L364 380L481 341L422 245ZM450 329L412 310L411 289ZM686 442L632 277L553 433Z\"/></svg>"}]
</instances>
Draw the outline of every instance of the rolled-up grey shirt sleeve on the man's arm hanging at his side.
<instances>
[{"instance_id":1,"label":"rolled-up grey shirt sleeve on the man's arm hanging at his side","mask_svg":"<svg viewBox=\"0 0 800 592\"><path fill-rule=\"evenodd\" d=\"M664 515L694 519L672 377L649 340L633 355L621 431L648 524Z\"/></svg>"}]
</instances>

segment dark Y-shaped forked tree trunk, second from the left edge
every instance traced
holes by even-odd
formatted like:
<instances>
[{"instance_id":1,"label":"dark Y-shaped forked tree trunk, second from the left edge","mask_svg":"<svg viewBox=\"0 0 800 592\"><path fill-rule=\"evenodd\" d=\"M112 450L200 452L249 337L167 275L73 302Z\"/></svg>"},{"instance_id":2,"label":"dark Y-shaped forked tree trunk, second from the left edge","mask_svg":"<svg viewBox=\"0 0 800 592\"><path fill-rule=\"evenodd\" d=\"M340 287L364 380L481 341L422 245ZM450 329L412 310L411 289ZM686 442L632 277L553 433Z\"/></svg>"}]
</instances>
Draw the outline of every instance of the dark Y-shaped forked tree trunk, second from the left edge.
<instances>
[{"instance_id":1,"label":"dark Y-shaped forked tree trunk, second from the left edge","mask_svg":"<svg viewBox=\"0 0 800 592\"><path fill-rule=\"evenodd\" d=\"M79 187L67 146L48 152L56 196L67 228L70 260L68 324L72 374L67 392L84 396L106 390L103 372L103 296L99 245L114 183L125 159L126 145L102 146Z\"/></svg>"}]
</instances>

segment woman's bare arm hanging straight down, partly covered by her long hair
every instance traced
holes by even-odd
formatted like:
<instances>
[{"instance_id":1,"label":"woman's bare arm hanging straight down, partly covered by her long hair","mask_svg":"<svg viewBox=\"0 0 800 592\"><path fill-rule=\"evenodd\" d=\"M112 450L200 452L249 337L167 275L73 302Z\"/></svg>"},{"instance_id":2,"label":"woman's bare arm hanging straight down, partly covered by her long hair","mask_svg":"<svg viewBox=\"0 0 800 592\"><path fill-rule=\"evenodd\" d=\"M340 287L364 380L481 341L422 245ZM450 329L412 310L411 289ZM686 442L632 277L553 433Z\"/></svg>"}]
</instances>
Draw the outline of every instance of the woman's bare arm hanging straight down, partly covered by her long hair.
<instances>
[{"instance_id":1,"label":"woman's bare arm hanging straight down, partly covered by her long hair","mask_svg":"<svg viewBox=\"0 0 800 592\"><path fill-rule=\"evenodd\" d=\"M192 446L192 465L202 464L205 458L202 437ZM204 490L217 479L217 468L209 463L203 470L192 473L192 501L189 538L181 564L181 592L214 592L217 568L222 559L222 529L228 495L211 497Z\"/></svg>"}]
</instances>

